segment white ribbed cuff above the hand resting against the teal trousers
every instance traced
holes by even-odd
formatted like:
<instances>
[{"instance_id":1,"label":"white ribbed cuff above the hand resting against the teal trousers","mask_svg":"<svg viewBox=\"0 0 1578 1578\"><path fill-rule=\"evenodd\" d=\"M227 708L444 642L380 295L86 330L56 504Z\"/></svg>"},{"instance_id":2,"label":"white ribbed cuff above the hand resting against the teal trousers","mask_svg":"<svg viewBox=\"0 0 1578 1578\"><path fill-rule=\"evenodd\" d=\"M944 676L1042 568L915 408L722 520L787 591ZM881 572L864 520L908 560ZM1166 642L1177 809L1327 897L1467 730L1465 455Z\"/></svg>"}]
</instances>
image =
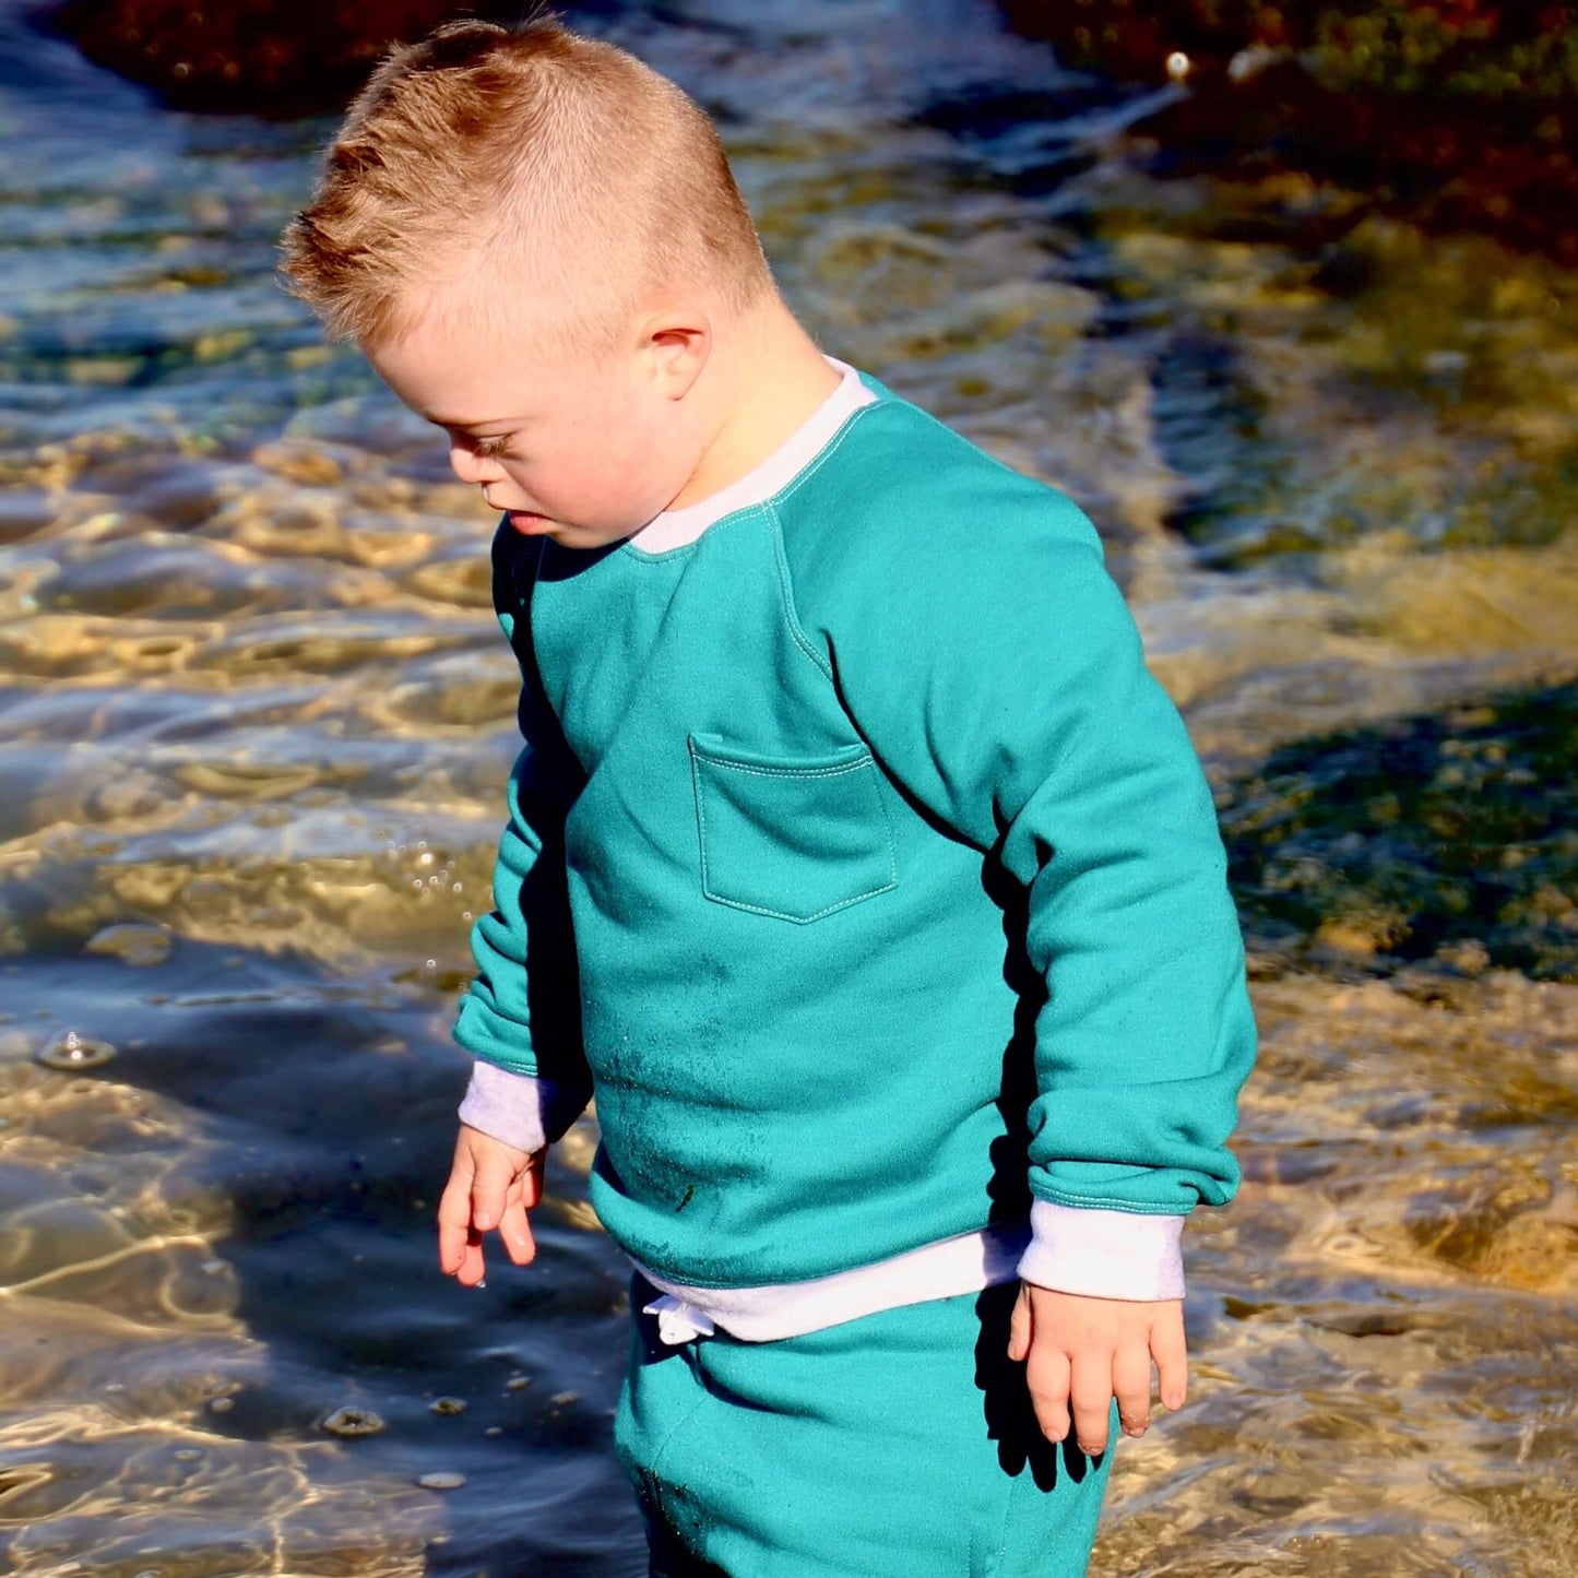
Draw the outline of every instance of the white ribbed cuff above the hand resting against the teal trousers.
<instances>
[{"instance_id":1,"label":"white ribbed cuff above the hand resting against the teal trousers","mask_svg":"<svg viewBox=\"0 0 1578 1578\"><path fill-rule=\"evenodd\" d=\"M1019 1275L1092 1299L1182 1299L1184 1218L1037 1199Z\"/></svg>"}]
</instances>

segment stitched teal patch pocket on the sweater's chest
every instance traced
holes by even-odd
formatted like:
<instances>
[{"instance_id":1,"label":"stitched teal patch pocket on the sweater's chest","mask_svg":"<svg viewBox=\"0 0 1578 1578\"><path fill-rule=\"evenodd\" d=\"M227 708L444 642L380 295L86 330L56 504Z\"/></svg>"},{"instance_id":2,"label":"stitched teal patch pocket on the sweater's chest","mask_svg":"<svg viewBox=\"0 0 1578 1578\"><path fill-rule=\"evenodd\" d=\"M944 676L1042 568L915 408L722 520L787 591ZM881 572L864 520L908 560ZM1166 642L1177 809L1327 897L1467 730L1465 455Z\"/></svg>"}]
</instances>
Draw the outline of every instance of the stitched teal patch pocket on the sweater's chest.
<instances>
[{"instance_id":1,"label":"stitched teal patch pocket on the sweater's chest","mask_svg":"<svg viewBox=\"0 0 1578 1578\"><path fill-rule=\"evenodd\" d=\"M893 828L863 745L780 757L693 734L690 753L701 890L715 904L803 925L896 885Z\"/></svg>"}]
</instances>

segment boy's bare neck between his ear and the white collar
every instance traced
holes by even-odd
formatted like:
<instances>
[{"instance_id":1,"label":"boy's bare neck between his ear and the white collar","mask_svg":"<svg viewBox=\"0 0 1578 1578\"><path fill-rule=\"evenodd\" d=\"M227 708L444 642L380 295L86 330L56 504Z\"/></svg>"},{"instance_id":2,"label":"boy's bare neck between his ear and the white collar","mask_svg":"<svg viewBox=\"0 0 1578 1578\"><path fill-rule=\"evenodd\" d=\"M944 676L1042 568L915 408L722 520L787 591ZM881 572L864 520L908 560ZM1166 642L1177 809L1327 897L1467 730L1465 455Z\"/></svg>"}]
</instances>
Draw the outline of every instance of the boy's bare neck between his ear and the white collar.
<instances>
[{"instance_id":1,"label":"boy's bare neck between his ear and the white collar","mask_svg":"<svg viewBox=\"0 0 1578 1578\"><path fill-rule=\"evenodd\" d=\"M710 499L748 477L838 388L839 374L773 297L742 319L729 350L715 353L712 439L669 510Z\"/></svg>"}]
</instances>

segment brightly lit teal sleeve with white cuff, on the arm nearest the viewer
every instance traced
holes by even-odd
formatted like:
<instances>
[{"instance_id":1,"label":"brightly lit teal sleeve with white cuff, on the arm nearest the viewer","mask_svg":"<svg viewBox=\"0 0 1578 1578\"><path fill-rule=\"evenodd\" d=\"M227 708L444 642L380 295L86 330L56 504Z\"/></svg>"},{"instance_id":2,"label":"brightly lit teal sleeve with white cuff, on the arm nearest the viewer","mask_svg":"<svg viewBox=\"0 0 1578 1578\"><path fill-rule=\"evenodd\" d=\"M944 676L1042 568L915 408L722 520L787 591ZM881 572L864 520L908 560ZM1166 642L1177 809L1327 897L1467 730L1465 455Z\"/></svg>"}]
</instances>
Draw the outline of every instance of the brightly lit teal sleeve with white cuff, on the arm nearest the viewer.
<instances>
[{"instance_id":1,"label":"brightly lit teal sleeve with white cuff, on the arm nearest the viewer","mask_svg":"<svg viewBox=\"0 0 1578 1578\"><path fill-rule=\"evenodd\" d=\"M821 633L882 765L1026 890L1045 1002L1021 1273L1176 1297L1184 1215L1237 1190L1255 1060L1210 787L1079 507L1013 477L977 519L890 540Z\"/></svg>"}]
</instances>

